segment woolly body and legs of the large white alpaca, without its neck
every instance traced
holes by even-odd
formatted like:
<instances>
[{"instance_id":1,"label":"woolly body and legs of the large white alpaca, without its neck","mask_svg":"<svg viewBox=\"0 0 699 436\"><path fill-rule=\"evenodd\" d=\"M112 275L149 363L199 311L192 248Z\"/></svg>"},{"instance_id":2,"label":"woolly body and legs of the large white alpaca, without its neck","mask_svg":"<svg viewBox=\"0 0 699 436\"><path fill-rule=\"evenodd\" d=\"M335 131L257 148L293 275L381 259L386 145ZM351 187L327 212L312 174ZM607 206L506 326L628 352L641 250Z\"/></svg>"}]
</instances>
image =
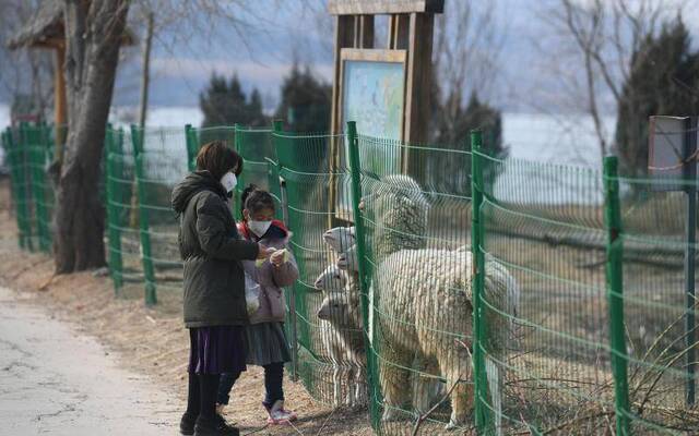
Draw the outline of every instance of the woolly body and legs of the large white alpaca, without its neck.
<instances>
[{"instance_id":1,"label":"woolly body and legs of the large white alpaca, without its neck","mask_svg":"<svg viewBox=\"0 0 699 436\"><path fill-rule=\"evenodd\" d=\"M426 362L436 361L451 395L452 413L448 427L465 424L473 398L470 351L473 327L472 259L466 250L402 250L388 256L377 268L372 299L381 316L377 324L382 338L380 383L386 401L383 420L399 416L407 398L407 375L399 370L412 363L415 350ZM486 264L485 299L502 311L516 312L517 282L507 269L490 259ZM514 308L513 308L514 307ZM493 311L486 312L494 353L502 352L510 337L510 323ZM371 330L372 325L369 326ZM489 375L488 378L493 378ZM501 375L495 375L499 382Z\"/></svg>"}]
</instances>

